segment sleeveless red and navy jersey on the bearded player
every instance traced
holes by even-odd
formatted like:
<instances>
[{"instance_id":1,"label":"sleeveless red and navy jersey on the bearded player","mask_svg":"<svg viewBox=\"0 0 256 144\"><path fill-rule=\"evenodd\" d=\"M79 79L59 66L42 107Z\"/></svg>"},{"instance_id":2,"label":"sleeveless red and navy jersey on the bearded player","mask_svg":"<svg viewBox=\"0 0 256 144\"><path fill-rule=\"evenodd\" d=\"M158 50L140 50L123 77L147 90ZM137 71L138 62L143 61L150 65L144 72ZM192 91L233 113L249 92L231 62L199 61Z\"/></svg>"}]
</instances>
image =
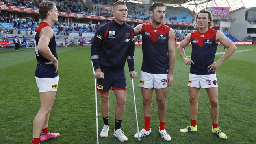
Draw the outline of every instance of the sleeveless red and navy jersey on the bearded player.
<instances>
[{"instance_id":1,"label":"sleeveless red and navy jersey on the bearded player","mask_svg":"<svg viewBox=\"0 0 256 144\"><path fill-rule=\"evenodd\" d=\"M141 70L151 74L167 74L169 70L168 61L168 39L170 27L161 24L154 28L151 23L143 24L142 53L143 61Z\"/></svg>"}]
</instances>

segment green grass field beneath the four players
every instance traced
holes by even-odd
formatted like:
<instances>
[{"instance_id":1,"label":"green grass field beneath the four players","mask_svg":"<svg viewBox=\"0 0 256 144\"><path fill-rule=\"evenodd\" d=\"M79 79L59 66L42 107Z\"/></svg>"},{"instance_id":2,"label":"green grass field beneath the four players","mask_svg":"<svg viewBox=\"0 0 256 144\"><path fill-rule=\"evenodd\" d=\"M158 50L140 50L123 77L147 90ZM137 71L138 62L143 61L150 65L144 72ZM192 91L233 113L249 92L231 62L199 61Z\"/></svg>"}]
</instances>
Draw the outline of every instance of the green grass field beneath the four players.
<instances>
[{"instance_id":1,"label":"green grass field beneath the four players","mask_svg":"<svg viewBox=\"0 0 256 144\"><path fill-rule=\"evenodd\" d=\"M211 116L208 96L201 90L198 102L198 131L180 133L190 124L189 95L186 66L178 52L174 67L174 83L169 88L165 129L173 144L250 144L256 143L256 46L238 45L238 51L217 68L219 81L219 126L227 134L221 140L211 133ZM52 107L49 130L61 133L59 138L42 144L93 144L96 143L94 79L91 69L90 49L78 47L57 48L59 57L59 87ZM217 52L223 52L219 46ZM186 48L191 55L191 47ZM219 59L216 55L215 59ZM135 70L139 72L142 61L141 47L135 48ZM0 50L0 144L29 144L32 122L39 110L39 92L35 83L35 52L33 48ZM128 73L126 65L126 73ZM139 79L134 79L139 129L144 126L143 105ZM132 87L127 75L127 102L122 130L129 144L168 143L158 134L157 104L153 98L151 115L152 135L141 142L133 138L136 131ZM154 95L155 96L155 95ZM98 97L98 104L100 98ZM121 143L113 136L115 126L115 96L110 93L109 136L99 138L102 144ZM99 132L103 121L98 105Z\"/></svg>"}]
</instances>

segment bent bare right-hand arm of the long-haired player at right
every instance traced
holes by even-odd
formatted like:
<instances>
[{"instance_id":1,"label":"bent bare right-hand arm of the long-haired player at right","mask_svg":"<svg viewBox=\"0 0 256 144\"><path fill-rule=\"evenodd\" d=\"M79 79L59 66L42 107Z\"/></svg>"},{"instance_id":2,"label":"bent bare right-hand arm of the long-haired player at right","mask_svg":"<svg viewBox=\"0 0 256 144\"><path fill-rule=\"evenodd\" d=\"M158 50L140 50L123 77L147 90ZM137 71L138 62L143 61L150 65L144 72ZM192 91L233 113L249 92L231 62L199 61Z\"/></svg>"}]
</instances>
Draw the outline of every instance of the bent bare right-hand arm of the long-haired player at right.
<instances>
[{"instance_id":1,"label":"bent bare right-hand arm of the long-haired player at right","mask_svg":"<svg viewBox=\"0 0 256 144\"><path fill-rule=\"evenodd\" d=\"M221 31L217 31L216 41L221 42L221 44L223 44L223 46L225 46L227 50L218 61L212 63L207 67L209 68L209 72L212 69L215 70L217 67L219 67L221 63L223 63L223 61L228 59L237 50L235 44L230 39L228 39Z\"/></svg>"}]
</instances>

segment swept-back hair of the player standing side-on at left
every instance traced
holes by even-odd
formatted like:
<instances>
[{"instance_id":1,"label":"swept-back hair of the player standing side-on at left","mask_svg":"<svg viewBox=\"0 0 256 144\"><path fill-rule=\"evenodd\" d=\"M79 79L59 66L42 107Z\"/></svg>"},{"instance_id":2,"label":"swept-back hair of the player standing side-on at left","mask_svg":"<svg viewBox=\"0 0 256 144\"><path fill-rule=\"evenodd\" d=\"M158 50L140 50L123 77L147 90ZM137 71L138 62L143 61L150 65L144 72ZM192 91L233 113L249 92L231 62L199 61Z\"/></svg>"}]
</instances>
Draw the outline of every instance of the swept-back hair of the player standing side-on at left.
<instances>
[{"instance_id":1,"label":"swept-back hair of the player standing side-on at left","mask_svg":"<svg viewBox=\"0 0 256 144\"><path fill-rule=\"evenodd\" d=\"M50 0L44 0L39 5L39 13L40 17L42 19L45 19L47 17L47 12L51 11L55 5L54 2L51 2Z\"/></svg>"}]
</instances>

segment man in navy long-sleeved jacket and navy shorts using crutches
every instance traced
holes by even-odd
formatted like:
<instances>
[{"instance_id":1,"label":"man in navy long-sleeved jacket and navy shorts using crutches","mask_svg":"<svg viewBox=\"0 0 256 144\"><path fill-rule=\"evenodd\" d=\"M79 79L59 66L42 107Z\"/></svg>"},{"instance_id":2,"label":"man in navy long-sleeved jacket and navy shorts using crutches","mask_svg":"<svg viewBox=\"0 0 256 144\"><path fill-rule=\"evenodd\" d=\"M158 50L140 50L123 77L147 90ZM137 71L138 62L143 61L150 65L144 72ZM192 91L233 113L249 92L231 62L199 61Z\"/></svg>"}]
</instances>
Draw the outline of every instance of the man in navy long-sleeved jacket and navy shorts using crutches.
<instances>
[{"instance_id":1,"label":"man in navy long-sleeved jacket and navy shorts using crutches","mask_svg":"<svg viewBox=\"0 0 256 144\"><path fill-rule=\"evenodd\" d=\"M104 122L100 136L108 137L108 100L109 90L112 89L117 100L113 135L119 141L126 142L128 138L121 130L127 90L124 65L127 59L130 75L134 77L134 30L125 23L127 7L124 2L115 2L112 12L115 20L100 26L95 33L91 46L91 60L95 68L96 87L100 93L100 109Z\"/></svg>"}]
</instances>

